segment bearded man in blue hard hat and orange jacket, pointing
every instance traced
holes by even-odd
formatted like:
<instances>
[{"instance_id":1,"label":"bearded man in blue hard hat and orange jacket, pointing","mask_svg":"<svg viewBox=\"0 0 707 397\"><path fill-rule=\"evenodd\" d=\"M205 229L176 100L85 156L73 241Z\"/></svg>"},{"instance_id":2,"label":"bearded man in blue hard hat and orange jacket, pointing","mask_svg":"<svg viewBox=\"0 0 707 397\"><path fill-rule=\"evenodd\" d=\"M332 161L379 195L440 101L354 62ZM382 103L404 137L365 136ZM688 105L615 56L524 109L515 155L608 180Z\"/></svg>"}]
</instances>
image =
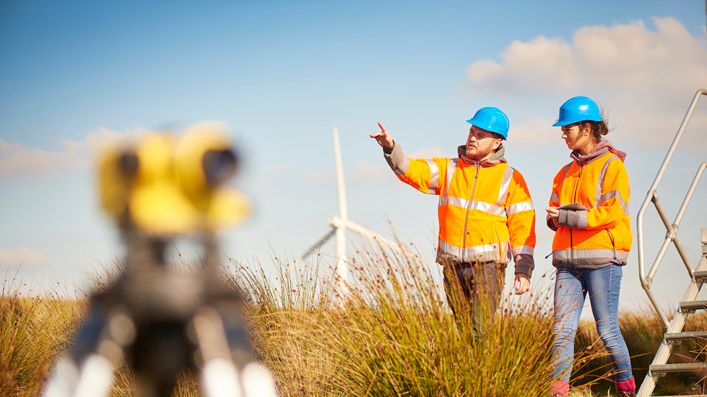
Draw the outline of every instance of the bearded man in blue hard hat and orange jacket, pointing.
<instances>
[{"instance_id":1,"label":"bearded man in blue hard hat and orange jacket, pointing","mask_svg":"<svg viewBox=\"0 0 707 397\"><path fill-rule=\"evenodd\" d=\"M471 128L457 158L409 158L381 123L371 138L383 147L401 181L439 196L437 263L444 267L447 300L456 313L450 296L456 278L476 324L478 302L483 302L480 294L488 297L491 313L498 306L511 258L516 293L528 290L534 268L535 210L523 176L503 158L506 115L487 107L467 122Z\"/></svg>"}]
</instances>

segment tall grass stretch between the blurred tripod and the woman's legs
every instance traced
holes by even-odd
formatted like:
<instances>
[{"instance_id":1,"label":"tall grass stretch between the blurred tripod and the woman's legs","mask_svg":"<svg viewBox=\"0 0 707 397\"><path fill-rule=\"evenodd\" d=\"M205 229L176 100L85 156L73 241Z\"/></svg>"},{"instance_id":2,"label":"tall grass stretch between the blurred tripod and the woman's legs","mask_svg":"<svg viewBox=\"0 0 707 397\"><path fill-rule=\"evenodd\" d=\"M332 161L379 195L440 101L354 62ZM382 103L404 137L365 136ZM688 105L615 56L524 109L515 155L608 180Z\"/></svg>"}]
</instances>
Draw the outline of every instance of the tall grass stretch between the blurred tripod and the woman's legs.
<instances>
[{"instance_id":1,"label":"tall grass stretch between the blurred tripod and the woman's legs","mask_svg":"<svg viewBox=\"0 0 707 397\"><path fill-rule=\"evenodd\" d=\"M547 395L549 297L505 296L495 315L482 313L475 337L468 307L452 315L434 266L416 255L359 253L344 306L333 283L306 269L281 270L280 288L247 267L236 279L255 303L254 334L285 395Z\"/></svg>"}]
</instances>

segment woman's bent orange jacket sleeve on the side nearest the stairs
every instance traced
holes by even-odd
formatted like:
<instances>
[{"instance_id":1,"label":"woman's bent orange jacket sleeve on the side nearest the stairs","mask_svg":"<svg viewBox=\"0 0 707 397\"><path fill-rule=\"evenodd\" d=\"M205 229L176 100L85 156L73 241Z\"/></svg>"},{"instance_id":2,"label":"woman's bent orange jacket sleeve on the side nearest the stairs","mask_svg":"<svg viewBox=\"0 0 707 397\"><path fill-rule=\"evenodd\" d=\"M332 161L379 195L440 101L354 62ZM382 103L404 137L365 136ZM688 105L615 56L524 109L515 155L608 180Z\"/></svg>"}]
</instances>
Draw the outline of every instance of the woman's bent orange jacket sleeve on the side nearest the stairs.
<instances>
[{"instance_id":1,"label":"woman's bent orange jacket sleeve on the side nearest the stairs","mask_svg":"<svg viewBox=\"0 0 707 397\"><path fill-rule=\"evenodd\" d=\"M623 162L614 158L609 160L606 174L597 181L596 205L586 211L560 210L559 223L578 229L610 229L618 221L628 216L630 188L628 173Z\"/></svg>"}]
</instances>

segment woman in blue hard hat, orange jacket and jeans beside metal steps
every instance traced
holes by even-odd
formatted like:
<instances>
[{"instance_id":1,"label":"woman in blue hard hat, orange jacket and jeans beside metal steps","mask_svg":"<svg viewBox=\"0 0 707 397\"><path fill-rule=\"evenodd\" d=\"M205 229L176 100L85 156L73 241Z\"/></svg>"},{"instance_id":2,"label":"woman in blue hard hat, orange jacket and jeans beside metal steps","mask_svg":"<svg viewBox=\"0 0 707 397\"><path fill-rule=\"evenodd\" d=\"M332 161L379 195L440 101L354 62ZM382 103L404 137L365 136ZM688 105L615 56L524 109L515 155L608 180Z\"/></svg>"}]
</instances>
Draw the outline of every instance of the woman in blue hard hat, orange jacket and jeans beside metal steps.
<instances>
[{"instance_id":1,"label":"woman in blue hard hat, orange jacket and jeans beside metal steps","mask_svg":"<svg viewBox=\"0 0 707 397\"><path fill-rule=\"evenodd\" d=\"M572 162L552 182L548 226L555 231L556 359L553 395L566 396L574 359L574 337L589 294L597 331L611 355L619 396L635 396L631 361L618 321L622 267L631 249L626 154L602 140L608 127L599 106L574 97L560 108L555 126L572 150Z\"/></svg>"}]
</instances>

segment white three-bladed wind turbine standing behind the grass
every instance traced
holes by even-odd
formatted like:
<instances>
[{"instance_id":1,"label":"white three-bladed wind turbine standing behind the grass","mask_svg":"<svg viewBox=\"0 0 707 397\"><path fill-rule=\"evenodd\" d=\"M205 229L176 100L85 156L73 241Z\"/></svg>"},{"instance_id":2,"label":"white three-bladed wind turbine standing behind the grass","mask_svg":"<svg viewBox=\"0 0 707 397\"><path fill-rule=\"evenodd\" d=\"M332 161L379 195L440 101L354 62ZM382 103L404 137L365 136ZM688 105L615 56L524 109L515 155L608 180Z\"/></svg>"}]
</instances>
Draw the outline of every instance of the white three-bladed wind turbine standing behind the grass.
<instances>
[{"instance_id":1,"label":"white three-bladed wind turbine standing behind the grass","mask_svg":"<svg viewBox=\"0 0 707 397\"><path fill-rule=\"evenodd\" d=\"M393 250L402 251L400 245L386 239L380 234L349 220L346 207L346 186L344 184L344 167L341 161L341 145L339 144L339 130L334 128L334 158L336 160L336 191L339 196L339 214L329 218L328 224L331 227L328 233L322 236L301 256L302 261L314 252L319 250L329 239L336 236L336 275L337 286L340 297L343 300L348 295L346 284L349 275L348 263L346 263L346 231L350 230L358 235L377 241Z\"/></svg>"}]
</instances>

